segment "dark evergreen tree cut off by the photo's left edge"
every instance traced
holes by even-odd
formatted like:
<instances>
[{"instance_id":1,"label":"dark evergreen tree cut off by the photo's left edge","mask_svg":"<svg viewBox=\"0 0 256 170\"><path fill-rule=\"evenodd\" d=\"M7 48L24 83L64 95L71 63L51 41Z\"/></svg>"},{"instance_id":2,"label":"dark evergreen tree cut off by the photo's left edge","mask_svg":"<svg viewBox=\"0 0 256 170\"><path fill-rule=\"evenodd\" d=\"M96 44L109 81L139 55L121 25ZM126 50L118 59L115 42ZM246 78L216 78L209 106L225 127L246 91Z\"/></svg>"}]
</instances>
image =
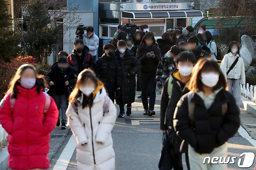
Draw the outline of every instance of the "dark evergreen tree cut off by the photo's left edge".
<instances>
[{"instance_id":1,"label":"dark evergreen tree cut off by the photo's left edge","mask_svg":"<svg viewBox=\"0 0 256 170\"><path fill-rule=\"evenodd\" d=\"M0 0L0 63L10 62L19 53L20 36L12 31L12 19L6 0Z\"/></svg>"}]
</instances>

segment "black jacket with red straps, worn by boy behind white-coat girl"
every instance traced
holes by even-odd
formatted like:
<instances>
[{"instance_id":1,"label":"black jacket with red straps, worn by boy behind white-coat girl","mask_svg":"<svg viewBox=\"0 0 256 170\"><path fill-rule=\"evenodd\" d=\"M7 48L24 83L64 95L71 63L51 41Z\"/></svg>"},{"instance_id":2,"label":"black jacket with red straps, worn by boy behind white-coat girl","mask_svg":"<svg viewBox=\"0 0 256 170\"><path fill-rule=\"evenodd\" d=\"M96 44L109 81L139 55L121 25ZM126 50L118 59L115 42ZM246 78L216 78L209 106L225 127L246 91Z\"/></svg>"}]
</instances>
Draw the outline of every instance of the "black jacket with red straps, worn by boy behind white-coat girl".
<instances>
[{"instance_id":1,"label":"black jacket with red straps, worn by boy behind white-coat girl","mask_svg":"<svg viewBox=\"0 0 256 170\"><path fill-rule=\"evenodd\" d=\"M68 61L74 67L77 75L86 68L94 69L95 62L93 56L89 54L89 48L84 45L82 55L77 55L77 51L73 49L72 54L68 56Z\"/></svg>"}]
</instances>

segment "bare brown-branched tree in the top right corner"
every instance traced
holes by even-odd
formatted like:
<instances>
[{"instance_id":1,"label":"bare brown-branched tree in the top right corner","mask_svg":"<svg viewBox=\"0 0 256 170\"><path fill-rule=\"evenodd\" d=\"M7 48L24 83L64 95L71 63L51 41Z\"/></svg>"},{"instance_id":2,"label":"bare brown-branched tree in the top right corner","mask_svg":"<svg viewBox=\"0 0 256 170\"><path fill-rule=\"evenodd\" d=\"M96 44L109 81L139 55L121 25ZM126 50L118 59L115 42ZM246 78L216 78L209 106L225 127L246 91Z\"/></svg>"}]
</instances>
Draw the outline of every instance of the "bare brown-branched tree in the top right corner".
<instances>
[{"instance_id":1,"label":"bare brown-branched tree in the top right corner","mask_svg":"<svg viewBox=\"0 0 256 170\"><path fill-rule=\"evenodd\" d=\"M217 25L225 43L256 32L255 0L219 0Z\"/></svg>"}]
</instances>

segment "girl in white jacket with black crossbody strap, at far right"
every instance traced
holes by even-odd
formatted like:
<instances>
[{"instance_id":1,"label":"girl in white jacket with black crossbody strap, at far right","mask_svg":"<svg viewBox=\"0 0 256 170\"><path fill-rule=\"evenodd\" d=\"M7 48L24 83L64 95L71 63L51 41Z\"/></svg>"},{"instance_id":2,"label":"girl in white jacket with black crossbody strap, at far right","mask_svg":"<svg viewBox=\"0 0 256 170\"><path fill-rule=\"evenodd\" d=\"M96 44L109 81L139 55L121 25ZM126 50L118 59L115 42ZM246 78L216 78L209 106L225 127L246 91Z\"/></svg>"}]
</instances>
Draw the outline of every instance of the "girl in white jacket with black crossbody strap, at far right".
<instances>
[{"instance_id":1,"label":"girl in white jacket with black crossbody strap, at far right","mask_svg":"<svg viewBox=\"0 0 256 170\"><path fill-rule=\"evenodd\" d=\"M232 66L232 64L235 64ZM232 67L231 67L232 66ZM237 106L241 105L240 84L245 84L244 61L240 56L238 43L230 42L228 51L221 61L221 70L227 79L229 92L234 95Z\"/></svg>"}]
</instances>

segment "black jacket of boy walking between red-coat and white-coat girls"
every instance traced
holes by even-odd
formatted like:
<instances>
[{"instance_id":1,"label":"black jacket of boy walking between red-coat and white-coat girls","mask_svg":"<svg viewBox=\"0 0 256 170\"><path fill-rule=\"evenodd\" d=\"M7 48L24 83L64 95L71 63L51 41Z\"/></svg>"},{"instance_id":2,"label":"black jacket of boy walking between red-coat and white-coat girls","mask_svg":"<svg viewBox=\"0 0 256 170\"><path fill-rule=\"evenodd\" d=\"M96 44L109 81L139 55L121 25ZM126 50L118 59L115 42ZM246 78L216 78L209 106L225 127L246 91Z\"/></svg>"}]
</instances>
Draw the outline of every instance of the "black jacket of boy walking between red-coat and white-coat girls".
<instances>
[{"instance_id":1,"label":"black jacket of boy walking between red-coat and white-coat girls","mask_svg":"<svg viewBox=\"0 0 256 170\"><path fill-rule=\"evenodd\" d=\"M45 75L45 79L47 83L51 81L54 83L47 92L49 95L66 94L68 96L68 87L74 87L77 81L77 75L75 74L75 69L72 66L69 66L65 72L61 72L58 68L58 64L54 64L54 66L51 67L51 71ZM65 85L66 81L69 82L68 86Z\"/></svg>"}]
</instances>

